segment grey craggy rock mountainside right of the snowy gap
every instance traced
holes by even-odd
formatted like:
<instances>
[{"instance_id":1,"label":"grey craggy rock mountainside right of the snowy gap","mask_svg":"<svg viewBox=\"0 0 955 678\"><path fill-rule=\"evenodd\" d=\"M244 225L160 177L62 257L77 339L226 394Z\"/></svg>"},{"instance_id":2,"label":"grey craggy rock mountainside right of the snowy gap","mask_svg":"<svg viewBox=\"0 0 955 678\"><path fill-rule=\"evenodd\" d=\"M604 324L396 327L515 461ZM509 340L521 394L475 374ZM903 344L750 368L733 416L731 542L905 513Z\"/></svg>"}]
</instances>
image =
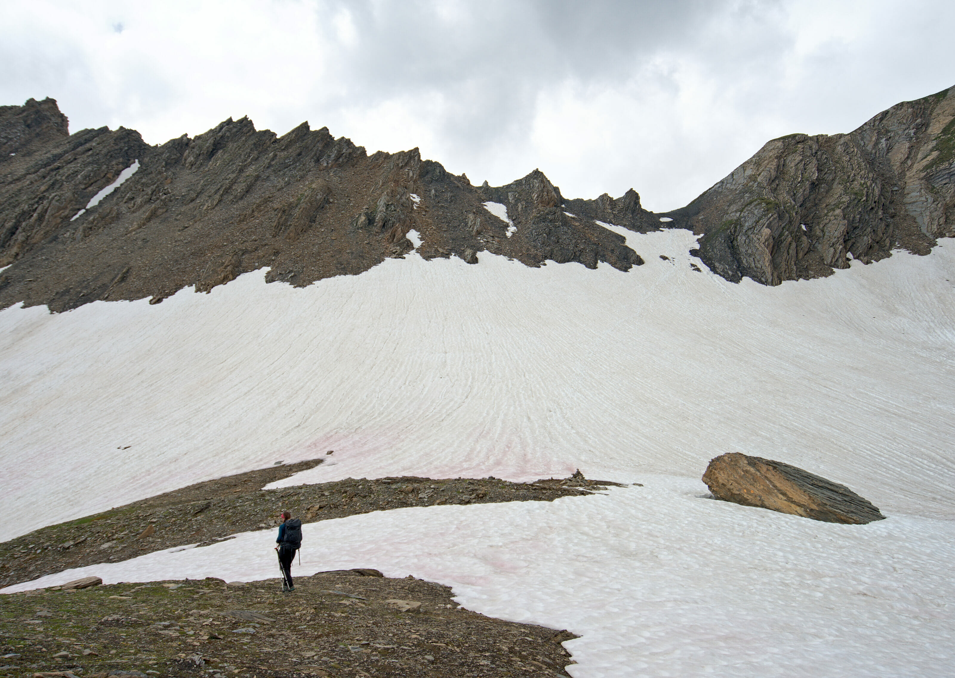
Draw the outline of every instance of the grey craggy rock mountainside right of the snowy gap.
<instances>
[{"instance_id":1,"label":"grey craggy rock mountainside right of the snowy gap","mask_svg":"<svg viewBox=\"0 0 955 678\"><path fill-rule=\"evenodd\" d=\"M732 281L765 285L924 254L955 235L955 88L906 101L846 135L773 139L670 225Z\"/></svg>"}]
</instances>

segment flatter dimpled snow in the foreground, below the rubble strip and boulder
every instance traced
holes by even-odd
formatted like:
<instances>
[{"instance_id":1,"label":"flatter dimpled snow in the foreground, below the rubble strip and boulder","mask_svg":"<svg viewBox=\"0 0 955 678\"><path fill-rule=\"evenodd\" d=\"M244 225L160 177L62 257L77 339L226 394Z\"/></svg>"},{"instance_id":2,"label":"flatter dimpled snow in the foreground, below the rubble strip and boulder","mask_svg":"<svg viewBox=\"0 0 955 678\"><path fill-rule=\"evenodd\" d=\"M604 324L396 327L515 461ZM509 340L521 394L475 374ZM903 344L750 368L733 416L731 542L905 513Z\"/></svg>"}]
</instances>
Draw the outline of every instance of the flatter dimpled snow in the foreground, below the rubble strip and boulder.
<instances>
[{"instance_id":1,"label":"flatter dimpled snow in the foreground, below the rubble strip and boulder","mask_svg":"<svg viewBox=\"0 0 955 678\"><path fill-rule=\"evenodd\" d=\"M467 609L581 635L565 645L578 678L950 675L952 521L824 523L699 498L696 478L640 480L605 496L308 523L293 575L373 567L450 585ZM85 576L275 578L274 540L246 532L3 592Z\"/></svg>"}]
</instances>

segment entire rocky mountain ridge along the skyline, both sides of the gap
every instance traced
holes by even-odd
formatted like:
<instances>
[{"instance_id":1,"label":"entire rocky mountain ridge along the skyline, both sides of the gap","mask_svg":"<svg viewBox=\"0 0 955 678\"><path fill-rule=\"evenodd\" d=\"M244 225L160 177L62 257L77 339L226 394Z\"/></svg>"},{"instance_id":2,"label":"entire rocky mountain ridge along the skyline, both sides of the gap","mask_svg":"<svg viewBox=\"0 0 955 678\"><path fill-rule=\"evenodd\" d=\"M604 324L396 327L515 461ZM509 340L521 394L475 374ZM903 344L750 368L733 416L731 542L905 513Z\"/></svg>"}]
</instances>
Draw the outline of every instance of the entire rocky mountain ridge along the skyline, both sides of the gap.
<instances>
[{"instance_id":1,"label":"entire rocky mountain ridge along the skyline, both sides of the gap","mask_svg":"<svg viewBox=\"0 0 955 678\"><path fill-rule=\"evenodd\" d=\"M955 88L847 135L774 139L686 207L654 214L633 189L567 200L540 170L473 186L417 149L369 156L308 123L278 137L230 118L160 146L124 128L70 135L53 99L31 99L0 107L0 307L159 303L262 266L269 282L307 286L404 256L412 230L424 259L475 264L487 251L531 266L641 265L600 222L691 229L714 272L778 285L828 275L847 256L927 253L955 234L953 120ZM136 160L138 171L89 204Z\"/></svg>"}]
</instances>

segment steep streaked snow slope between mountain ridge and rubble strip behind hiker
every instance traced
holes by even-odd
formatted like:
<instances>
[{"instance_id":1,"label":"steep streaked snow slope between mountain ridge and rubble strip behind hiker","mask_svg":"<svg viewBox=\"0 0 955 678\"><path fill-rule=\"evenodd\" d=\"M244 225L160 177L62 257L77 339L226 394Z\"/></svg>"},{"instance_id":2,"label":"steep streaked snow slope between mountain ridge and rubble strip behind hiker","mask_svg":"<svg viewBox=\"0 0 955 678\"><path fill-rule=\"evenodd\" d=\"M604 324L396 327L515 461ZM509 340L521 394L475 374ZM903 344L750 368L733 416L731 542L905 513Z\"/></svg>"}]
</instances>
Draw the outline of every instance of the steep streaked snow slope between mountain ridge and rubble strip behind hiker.
<instances>
[{"instance_id":1,"label":"steep streaked snow slope between mountain ridge and rubble strip behind hiker","mask_svg":"<svg viewBox=\"0 0 955 678\"><path fill-rule=\"evenodd\" d=\"M744 452L952 516L955 247L772 288L691 270L686 231L628 239L629 273L412 254L306 289L4 310L0 539L328 450L284 484L700 477Z\"/></svg>"}]
</instances>

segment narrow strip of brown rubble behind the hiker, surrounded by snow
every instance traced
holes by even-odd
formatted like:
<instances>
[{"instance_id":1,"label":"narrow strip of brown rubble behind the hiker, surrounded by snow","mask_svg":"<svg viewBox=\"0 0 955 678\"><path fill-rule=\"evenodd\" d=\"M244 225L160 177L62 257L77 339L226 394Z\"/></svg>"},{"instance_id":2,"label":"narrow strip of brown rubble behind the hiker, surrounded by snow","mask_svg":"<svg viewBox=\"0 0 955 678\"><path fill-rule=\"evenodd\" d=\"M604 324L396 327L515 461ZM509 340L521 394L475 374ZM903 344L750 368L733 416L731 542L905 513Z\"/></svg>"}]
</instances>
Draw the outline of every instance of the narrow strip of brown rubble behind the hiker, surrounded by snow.
<instances>
[{"instance_id":1,"label":"narrow strip of brown rubble behind the hiker, surrounded by snow","mask_svg":"<svg viewBox=\"0 0 955 678\"><path fill-rule=\"evenodd\" d=\"M202 547L238 532L276 529L283 509L303 522L314 522L407 506L553 501L617 484L587 480L578 474L534 483L497 478L385 477L260 489L320 462L302 461L197 483L5 541L0 543L0 587L71 567L126 561L197 542Z\"/></svg>"}]
</instances>

